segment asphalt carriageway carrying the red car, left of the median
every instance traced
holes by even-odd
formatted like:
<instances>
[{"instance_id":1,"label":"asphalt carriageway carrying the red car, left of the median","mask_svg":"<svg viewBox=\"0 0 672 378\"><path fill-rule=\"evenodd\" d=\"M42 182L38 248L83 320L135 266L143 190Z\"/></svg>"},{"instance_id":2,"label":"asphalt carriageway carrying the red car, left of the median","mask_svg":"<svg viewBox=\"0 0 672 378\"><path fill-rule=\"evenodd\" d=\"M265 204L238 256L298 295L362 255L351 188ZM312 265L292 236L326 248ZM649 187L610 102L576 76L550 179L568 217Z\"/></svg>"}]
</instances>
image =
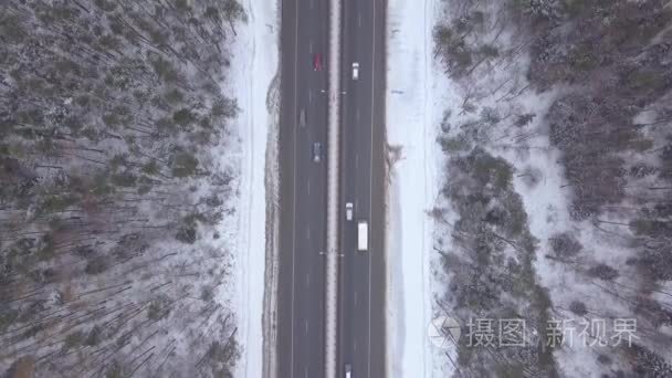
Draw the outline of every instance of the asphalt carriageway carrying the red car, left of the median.
<instances>
[{"instance_id":1,"label":"asphalt carriageway carrying the red car, left of the median","mask_svg":"<svg viewBox=\"0 0 672 378\"><path fill-rule=\"evenodd\" d=\"M324 376L326 248L326 0L282 0L279 377ZM301 112L305 112L305 126ZM313 161L313 144L322 161Z\"/></svg>"}]
</instances>

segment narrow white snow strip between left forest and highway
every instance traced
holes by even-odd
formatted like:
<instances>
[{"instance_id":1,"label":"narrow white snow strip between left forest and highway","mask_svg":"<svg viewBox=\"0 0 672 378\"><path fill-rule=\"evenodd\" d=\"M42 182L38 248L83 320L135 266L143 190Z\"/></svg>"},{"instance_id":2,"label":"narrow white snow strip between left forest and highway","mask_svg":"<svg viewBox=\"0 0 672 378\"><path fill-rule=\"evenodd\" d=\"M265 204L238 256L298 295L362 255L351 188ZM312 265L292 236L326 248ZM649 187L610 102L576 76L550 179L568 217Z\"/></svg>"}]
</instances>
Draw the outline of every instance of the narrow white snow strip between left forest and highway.
<instances>
[{"instance_id":1,"label":"narrow white snow strip between left forest and highway","mask_svg":"<svg viewBox=\"0 0 672 378\"><path fill-rule=\"evenodd\" d=\"M239 339L242 357L238 377L256 378L263 367L263 298L266 225L266 144L274 122L267 94L277 71L277 4L267 0L241 1L248 23L237 30L231 63L243 145L241 216L238 228L237 273Z\"/></svg>"}]
</instances>

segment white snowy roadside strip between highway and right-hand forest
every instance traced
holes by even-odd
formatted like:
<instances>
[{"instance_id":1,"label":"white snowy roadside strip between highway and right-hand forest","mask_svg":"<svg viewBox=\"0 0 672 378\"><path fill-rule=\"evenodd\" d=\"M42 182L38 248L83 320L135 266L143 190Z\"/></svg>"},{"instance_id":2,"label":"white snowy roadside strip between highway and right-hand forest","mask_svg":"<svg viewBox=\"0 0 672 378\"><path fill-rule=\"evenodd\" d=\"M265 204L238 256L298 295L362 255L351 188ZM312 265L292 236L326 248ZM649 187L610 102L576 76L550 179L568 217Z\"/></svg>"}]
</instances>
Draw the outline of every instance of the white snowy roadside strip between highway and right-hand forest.
<instances>
[{"instance_id":1,"label":"white snowy roadside strip between highway and right-hand forest","mask_svg":"<svg viewBox=\"0 0 672 378\"><path fill-rule=\"evenodd\" d=\"M427 337L433 317L432 221L441 151L435 125L453 98L433 63L440 1L388 2L387 136L400 148L391 169L388 229L388 371L391 377L448 376Z\"/></svg>"}]
</instances>

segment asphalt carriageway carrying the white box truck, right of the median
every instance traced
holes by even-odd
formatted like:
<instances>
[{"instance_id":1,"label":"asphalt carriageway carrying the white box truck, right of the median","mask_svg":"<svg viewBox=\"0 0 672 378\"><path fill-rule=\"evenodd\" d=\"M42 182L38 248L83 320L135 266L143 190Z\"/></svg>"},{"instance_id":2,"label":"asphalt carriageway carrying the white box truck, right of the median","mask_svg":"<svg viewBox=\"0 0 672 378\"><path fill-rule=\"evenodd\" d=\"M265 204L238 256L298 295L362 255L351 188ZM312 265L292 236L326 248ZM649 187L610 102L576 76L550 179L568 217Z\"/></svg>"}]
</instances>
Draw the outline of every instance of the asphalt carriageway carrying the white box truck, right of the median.
<instances>
[{"instance_id":1,"label":"asphalt carriageway carrying the white box truck, right of the median","mask_svg":"<svg viewBox=\"0 0 672 378\"><path fill-rule=\"evenodd\" d=\"M385 370L385 15L384 0L344 0L339 367L354 378ZM359 77L353 77L353 63ZM369 250L357 251L357 221L369 222ZM342 370L343 371L343 370ZM343 377L343 372L339 377Z\"/></svg>"}]
</instances>

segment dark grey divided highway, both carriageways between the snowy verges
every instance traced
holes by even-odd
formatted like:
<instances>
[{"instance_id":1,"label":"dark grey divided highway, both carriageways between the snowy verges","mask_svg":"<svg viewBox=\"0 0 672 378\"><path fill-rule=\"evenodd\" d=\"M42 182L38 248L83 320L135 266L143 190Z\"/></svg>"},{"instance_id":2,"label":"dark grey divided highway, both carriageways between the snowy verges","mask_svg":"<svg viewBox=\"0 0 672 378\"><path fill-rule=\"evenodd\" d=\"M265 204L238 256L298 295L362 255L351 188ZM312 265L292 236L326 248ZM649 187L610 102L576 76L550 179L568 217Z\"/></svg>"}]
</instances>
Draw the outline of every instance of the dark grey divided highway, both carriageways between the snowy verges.
<instances>
[{"instance_id":1,"label":"dark grey divided highway, both carriageways between the snowy verges","mask_svg":"<svg viewBox=\"0 0 672 378\"><path fill-rule=\"evenodd\" d=\"M324 377L327 0L281 0L277 377ZM385 2L344 0L338 377L385 377ZM313 70L322 54L325 71ZM358 81L351 63L359 62ZM302 109L306 125L300 125ZM321 162L313 143L322 143ZM345 220L345 203L355 220ZM369 251L356 252L356 220Z\"/></svg>"}]
</instances>

